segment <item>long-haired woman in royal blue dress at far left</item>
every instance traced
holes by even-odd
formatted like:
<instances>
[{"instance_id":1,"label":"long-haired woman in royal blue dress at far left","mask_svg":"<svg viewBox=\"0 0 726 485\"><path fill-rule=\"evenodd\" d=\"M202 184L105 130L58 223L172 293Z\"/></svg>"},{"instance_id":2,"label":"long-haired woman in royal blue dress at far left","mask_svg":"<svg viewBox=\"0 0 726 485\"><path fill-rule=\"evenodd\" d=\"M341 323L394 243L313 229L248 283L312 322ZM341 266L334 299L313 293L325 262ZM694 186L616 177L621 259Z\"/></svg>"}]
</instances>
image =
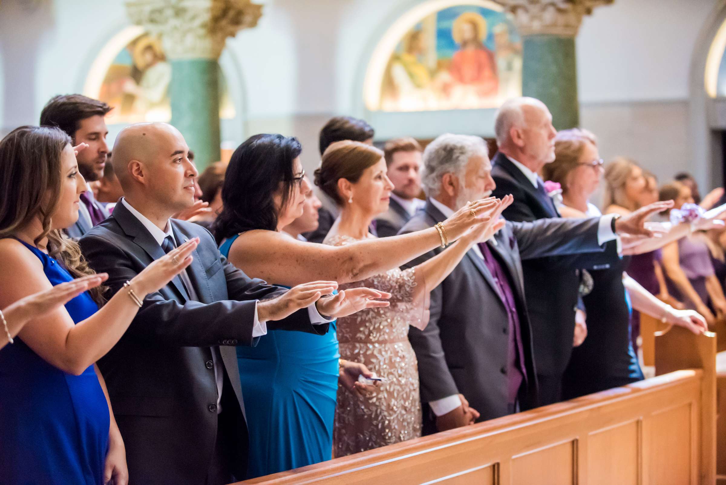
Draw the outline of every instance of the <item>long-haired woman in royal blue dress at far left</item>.
<instances>
[{"instance_id":1,"label":"long-haired woman in royal blue dress at far left","mask_svg":"<svg viewBox=\"0 0 726 485\"><path fill-rule=\"evenodd\" d=\"M61 232L78 219L86 189L60 129L23 126L0 141L0 308L93 274L78 244ZM123 439L94 362L129 327L136 298L189 265L197 242L189 243L151 264L102 309L102 288L93 288L30 319L0 350L1 484L127 483Z\"/></svg>"}]
</instances>

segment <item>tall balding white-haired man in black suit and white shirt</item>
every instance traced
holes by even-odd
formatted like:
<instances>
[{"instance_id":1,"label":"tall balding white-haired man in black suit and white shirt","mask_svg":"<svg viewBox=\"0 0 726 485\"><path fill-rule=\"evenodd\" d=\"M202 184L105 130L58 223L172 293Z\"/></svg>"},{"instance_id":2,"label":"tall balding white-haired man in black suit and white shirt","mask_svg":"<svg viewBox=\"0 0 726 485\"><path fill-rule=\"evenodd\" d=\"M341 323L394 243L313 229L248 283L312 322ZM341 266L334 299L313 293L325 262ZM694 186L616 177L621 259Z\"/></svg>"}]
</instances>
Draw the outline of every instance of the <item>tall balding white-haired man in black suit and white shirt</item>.
<instances>
[{"instance_id":1,"label":"tall balding white-haired man in black suit and white shirt","mask_svg":"<svg viewBox=\"0 0 726 485\"><path fill-rule=\"evenodd\" d=\"M531 97L509 99L499 108L494 131L499 146L492 160L492 177L497 184L494 195L514 195L514 203L504 211L507 220L560 217L538 175L545 164L555 160L557 131L547 106ZM613 217L611 214L603 218L601 235L611 232ZM611 245L609 250L616 250L616 243ZM587 335L584 305L579 298L580 270L596 268L588 264L572 266L570 258L563 257L537 258L522 266L534 335L539 397L542 404L552 404L560 401L562 376L573 346L579 346ZM558 278L553 280L553 274Z\"/></svg>"}]
</instances>

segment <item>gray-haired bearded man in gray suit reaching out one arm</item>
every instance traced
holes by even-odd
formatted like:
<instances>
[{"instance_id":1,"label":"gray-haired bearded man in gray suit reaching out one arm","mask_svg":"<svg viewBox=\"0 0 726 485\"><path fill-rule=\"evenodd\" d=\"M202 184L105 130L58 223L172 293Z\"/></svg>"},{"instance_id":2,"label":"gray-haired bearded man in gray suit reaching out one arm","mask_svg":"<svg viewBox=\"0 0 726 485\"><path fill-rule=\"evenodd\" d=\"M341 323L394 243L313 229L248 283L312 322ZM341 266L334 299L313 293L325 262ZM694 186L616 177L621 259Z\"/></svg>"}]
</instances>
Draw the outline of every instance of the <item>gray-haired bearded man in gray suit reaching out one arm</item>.
<instances>
[{"instance_id":1,"label":"gray-haired bearded man in gray suit reaching out one arm","mask_svg":"<svg viewBox=\"0 0 726 485\"><path fill-rule=\"evenodd\" d=\"M401 233L432 227L468 200L487 197L495 187L486 144L478 136L441 135L426 147L423 160L428 199ZM613 219L607 233L600 218L507 221L492 239L473 246L431 291L428 326L409 330L418 359L425 433L537 406L523 259L571 254L574 265L580 258L613 261L618 256L603 251L604 243L618 233L649 235L645 218L667 204Z\"/></svg>"}]
</instances>

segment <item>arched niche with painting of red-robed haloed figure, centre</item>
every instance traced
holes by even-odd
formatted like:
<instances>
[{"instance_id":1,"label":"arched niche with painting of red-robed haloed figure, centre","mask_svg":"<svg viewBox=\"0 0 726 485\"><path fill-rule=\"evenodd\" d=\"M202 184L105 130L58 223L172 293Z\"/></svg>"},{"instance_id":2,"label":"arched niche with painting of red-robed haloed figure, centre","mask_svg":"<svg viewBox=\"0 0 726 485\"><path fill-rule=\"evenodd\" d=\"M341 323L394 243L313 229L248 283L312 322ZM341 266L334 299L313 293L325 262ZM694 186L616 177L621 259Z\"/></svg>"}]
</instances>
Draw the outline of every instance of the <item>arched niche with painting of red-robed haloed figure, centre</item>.
<instances>
[{"instance_id":1,"label":"arched niche with painting of red-robed haloed figure, centre","mask_svg":"<svg viewBox=\"0 0 726 485\"><path fill-rule=\"evenodd\" d=\"M376 138L429 138L447 131L494 134L497 107L521 95L521 38L503 10L492 0L407 1L380 24L370 36L350 92L356 114L375 126ZM465 21L476 26L481 45L466 60L459 54ZM412 34L418 45L412 46ZM410 62L404 65L401 57L407 54ZM505 54L510 54L508 64ZM468 62L465 70L476 65L463 78L462 62ZM497 73L494 87L486 83L487 62ZM509 70L502 70L507 65ZM404 81L396 87L407 83L409 88L409 97L400 102L390 96L396 74ZM420 89L422 85L436 89Z\"/></svg>"}]
</instances>

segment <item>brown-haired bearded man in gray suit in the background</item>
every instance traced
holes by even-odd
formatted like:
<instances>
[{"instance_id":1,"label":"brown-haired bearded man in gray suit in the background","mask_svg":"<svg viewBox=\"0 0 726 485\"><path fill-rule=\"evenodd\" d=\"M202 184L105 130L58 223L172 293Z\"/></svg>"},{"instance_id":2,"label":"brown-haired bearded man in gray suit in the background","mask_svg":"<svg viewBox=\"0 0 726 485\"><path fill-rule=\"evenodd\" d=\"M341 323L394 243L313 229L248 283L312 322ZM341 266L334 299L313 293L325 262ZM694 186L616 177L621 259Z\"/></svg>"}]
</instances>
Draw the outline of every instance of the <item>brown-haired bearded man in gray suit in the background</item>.
<instances>
[{"instance_id":1,"label":"brown-haired bearded man in gray suit in the background","mask_svg":"<svg viewBox=\"0 0 726 485\"><path fill-rule=\"evenodd\" d=\"M423 207L423 200L417 198L421 194L422 152L421 145L411 137L393 139L383 147L393 192L388 211L375 219L378 237L395 236Z\"/></svg>"}]
</instances>

